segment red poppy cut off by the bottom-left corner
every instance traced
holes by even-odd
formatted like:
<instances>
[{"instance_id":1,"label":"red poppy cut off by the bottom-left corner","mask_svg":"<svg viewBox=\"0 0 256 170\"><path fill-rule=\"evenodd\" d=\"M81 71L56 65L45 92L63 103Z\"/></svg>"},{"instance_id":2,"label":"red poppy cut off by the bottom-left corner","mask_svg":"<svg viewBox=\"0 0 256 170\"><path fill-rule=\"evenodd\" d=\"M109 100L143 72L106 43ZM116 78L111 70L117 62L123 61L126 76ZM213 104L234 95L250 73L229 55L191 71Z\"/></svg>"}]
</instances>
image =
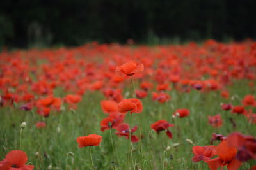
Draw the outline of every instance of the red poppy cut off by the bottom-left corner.
<instances>
[{"instance_id":1,"label":"red poppy cut off by the bottom-left corner","mask_svg":"<svg viewBox=\"0 0 256 170\"><path fill-rule=\"evenodd\" d=\"M25 165L28 162L28 157L26 152L22 150L12 150L5 156L0 162L0 169L8 170L8 169L26 169L31 170L34 169L34 166Z\"/></svg>"}]
</instances>

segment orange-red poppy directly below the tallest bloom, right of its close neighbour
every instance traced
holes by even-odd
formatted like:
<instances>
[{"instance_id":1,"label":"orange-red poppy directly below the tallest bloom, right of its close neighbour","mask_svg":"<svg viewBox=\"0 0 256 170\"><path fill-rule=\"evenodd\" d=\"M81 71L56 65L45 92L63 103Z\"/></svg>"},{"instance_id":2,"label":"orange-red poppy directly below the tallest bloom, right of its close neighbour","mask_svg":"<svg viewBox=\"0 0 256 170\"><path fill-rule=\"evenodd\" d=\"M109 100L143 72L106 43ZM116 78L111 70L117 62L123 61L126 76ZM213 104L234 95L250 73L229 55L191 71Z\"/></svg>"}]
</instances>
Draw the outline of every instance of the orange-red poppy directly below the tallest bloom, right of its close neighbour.
<instances>
[{"instance_id":1,"label":"orange-red poppy directly below the tallest bloom, right of its close neighbour","mask_svg":"<svg viewBox=\"0 0 256 170\"><path fill-rule=\"evenodd\" d=\"M118 111L120 113L141 113L143 110L143 105L139 99L131 98L131 99L123 99L120 103L118 103Z\"/></svg>"}]
</instances>

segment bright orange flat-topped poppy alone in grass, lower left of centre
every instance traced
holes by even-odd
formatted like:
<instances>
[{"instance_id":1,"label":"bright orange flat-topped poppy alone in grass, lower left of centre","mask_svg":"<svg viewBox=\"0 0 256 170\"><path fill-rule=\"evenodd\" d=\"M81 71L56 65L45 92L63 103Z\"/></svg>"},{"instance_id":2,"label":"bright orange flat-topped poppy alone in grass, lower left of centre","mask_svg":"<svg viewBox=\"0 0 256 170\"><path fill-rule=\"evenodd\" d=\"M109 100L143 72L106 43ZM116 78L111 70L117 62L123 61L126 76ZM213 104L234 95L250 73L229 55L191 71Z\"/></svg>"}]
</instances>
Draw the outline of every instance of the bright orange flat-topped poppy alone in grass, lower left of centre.
<instances>
[{"instance_id":1,"label":"bright orange flat-topped poppy alone in grass, lower left of centre","mask_svg":"<svg viewBox=\"0 0 256 170\"><path fill-rule=\"evenodd\" d=\"M88 136L79 136L76 141L79 143L79 148L87 146L99 146L102 136L97 134L89 134Z\"/></svg>"}]
</instances>

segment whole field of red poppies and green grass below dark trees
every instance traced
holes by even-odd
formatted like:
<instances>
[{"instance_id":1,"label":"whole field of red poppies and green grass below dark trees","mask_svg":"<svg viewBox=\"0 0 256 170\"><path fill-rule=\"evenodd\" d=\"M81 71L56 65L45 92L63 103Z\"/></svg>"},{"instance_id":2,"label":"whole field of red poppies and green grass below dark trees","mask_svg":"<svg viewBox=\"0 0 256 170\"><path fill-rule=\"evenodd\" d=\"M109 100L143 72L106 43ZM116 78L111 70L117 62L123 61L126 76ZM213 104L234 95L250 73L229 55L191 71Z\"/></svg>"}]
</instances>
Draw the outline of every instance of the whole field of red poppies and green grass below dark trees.
<instances>
[{"instance_id":1,"label":"whole field of red poppies and green grass below dark trees","mask_svg":"<svg viewBox=\"0 0 256 170\"><path fill-rule=\"evenodd\" d=\"M256 169L256 43L0 53L0 170Z\"/></svg>"}]
</instances>

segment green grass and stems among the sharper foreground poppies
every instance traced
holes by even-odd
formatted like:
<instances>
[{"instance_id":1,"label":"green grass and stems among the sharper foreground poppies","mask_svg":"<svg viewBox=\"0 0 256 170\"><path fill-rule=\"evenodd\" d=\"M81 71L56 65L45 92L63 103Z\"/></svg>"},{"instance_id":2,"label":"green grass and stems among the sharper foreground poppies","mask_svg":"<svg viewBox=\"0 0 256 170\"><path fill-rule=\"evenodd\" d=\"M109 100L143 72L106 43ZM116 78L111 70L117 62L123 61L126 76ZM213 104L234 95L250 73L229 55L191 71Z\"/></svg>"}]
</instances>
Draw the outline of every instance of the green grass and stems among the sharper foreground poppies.
<instances>
[{"instance_id":1,"label":"green grass and stems among the sharper foreground poppies","mask_svg":"<svg viewBox=\"0 0 256 170\"><path fill-rule=\"evenodd\" d=\"M231 96L237 95L242 99L246 94L252 93L247 84L248 81L244 80L228 87ZM124 89L124 92L131 90ZM60 89L55 93L64 96ZM168 93L172 99L166 103L157 103L148 96L141 100L144 106L142 113L134 113L131 116L127 113L124 122L129 123L131 127L139 125L143 135L141 142L132 144L136 169L208 169L204 162L192 162L193 145L186 142L186 139L191 139L195 145L205 146L210 145L211 134L214 132L223 135L233 131L254 136L256 134L255 124L249 124L244 116L220 109L220 103L228 102L220 97L220 92L202 93L191 90L189 93L182 93L171 90ZM100 131L100 121L107 117L100 108L102 99L104 96L101 92L86 92L76 111L70 111L65 106L61 112L52 112L48 118L36 114L35 110L0 108L0 159L10 150L19 149L20 124L26 122L27 127L22 133L22 150L27 153L28 162L35 165L35 169L47 169L49 165L52 169L93 169L89 148L78 148L76 142L78 136L88 134L103 136L101 145L92 147L93 162L97 169L133 169L130 142L124 137L116 136L113 129L113 153L109 130ZM234 105L240 104L237 98L231 102ZM173 119L172 113L177 108L188 108L191 111L189 117ZM208 125L207 115L218 113L221 113L223 125L216 129ZM232 128L230 117L234 118L236 129ZM173 139L169 139L164 132L157 135L150 129L150 122L154 123L160 119L175 124L170 127ZM36 129L35 123L39 121L46 122L47 127ZM140 130L135 134L139 136ZM180 145L174 148L175 143ZM218 145L218 141L215 141L214 145ZM39 153L37 157L36 152ZM70 152L74 155L68 154ZM116 154L119 159L116 159ZM249 169L252 165L253 160L250 160L243 163L241 169Z\"/></svg>"}]
</instances>

